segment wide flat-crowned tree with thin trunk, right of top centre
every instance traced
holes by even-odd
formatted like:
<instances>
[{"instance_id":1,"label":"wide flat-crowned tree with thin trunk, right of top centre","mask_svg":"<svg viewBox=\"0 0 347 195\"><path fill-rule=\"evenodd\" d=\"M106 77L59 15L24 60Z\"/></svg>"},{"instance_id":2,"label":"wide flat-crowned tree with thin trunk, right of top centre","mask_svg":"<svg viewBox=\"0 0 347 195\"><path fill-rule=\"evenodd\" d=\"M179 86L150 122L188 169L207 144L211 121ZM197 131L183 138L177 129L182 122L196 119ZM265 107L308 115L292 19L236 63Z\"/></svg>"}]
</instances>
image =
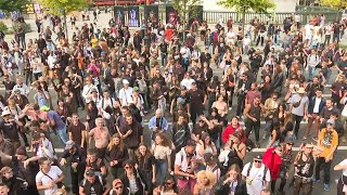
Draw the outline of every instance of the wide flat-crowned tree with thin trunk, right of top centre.
<instances>
[{"instance_id":1,"label":"wide flat-crowned tree with thin trunk, right of top centre","mask_svg":"<svg viewBox=\"0 0 347 195\"><path fill-rule=\"evenodd\" d=\"M275 8L275 4L271 0L220 0L218 1L218 4L223 5L226 8L235 9L237 12L243 13L242 35L244 35L246 12L268 13L268 9Z\"/></svg>"}]
</instances>

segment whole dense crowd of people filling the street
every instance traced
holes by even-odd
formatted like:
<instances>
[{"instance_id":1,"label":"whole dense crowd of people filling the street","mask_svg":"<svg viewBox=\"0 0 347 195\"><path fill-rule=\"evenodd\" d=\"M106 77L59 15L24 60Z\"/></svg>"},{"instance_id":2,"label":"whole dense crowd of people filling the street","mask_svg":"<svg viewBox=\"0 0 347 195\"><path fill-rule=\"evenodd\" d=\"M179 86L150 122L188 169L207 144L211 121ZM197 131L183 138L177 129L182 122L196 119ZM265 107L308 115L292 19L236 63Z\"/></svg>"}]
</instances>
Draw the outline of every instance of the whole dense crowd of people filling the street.
<instances>
[{"instance_id":1,"label":"whole dense crowd of people filling the street","mask_svg":"<svg viewBox=\"0 0 347 195\"><path fill-rule=\"evenodd\" d=\"M72 17L70 42L57 16L27 42L0 32L0 194L310 195L321 170L330 191L347 141L345 23L255 17L243 34L195 20L184 35L93 15ZM345 195L347 159L334 170Z\"/></svg>"}]
</instances>

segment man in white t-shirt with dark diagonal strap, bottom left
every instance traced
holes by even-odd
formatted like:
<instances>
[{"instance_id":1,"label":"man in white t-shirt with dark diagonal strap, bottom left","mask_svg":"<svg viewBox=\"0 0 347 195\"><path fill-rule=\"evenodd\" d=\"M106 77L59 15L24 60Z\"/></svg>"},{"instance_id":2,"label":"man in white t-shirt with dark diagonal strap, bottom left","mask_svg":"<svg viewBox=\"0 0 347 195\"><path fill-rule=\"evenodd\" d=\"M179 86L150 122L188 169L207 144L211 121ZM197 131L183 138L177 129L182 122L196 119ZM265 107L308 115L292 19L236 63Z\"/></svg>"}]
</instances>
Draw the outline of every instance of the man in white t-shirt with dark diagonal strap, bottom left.
<instances>
[{"instance_id":1,"label":"man in white t-shirt with dark diagonal strap, bottom left","mask_svg":"<svg viewBox=\"0 0 347 195\"><path fill-rule=\"evenodd\" d=\"M36 174L36 186L38 191L44 191L44 195L53 195L57 190L57 183L64 180L63 171L51 165L47 157L39 159L40 171Z\"/></svg>"}]
</instances>

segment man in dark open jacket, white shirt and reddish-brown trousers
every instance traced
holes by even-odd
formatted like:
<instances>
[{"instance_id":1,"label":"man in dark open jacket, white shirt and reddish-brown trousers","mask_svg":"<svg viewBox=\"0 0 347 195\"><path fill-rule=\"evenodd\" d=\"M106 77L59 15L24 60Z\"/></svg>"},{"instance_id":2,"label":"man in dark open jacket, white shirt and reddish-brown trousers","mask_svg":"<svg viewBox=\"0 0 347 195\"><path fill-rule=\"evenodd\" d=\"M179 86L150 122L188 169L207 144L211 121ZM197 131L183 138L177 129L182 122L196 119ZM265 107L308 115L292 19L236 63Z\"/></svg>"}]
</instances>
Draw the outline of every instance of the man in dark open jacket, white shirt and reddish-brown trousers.
<instances>
[{"instance_id":1,"label":"man in dark open jacket, white shirt and reddish-brown trousers","mask_svg":"<svg viewBox=\"0 0 347 195\"><path fill-rule=\"evenodd\" d=\"M312 125L314 122L314 135L313 139L317 140L318 131L320 127L320 114L325 105L325 99L322 96L323 88L316 88L316 95L312 96L308 104L308 126L303 140L306 140L311 131Z\"/></svg>"}]
</instances>

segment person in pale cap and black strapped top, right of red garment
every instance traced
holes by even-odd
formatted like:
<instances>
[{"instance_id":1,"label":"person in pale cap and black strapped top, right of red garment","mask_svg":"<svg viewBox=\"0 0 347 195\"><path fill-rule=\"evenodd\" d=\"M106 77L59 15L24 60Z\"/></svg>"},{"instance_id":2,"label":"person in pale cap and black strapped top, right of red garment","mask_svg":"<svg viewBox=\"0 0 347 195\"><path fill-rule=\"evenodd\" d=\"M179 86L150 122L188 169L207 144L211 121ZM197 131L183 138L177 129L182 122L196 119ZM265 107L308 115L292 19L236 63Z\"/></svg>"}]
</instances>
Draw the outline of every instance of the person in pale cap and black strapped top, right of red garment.
<instances>
[{"instance_id":1,"label":"person in pale cap and black strapped top, right of red garment","mask_svg":"<svg viewBox=\"0 0 347 195\"><path fill-rule=\"evenodd\" d=\"M312 177L316 158L312 154L314 145L304 143L294 160L294 195L310 195L312 193ZM292 185L292 184L291 184ZM290 185L290 186L291 186Z\"/></svg>"}]
</instances>

